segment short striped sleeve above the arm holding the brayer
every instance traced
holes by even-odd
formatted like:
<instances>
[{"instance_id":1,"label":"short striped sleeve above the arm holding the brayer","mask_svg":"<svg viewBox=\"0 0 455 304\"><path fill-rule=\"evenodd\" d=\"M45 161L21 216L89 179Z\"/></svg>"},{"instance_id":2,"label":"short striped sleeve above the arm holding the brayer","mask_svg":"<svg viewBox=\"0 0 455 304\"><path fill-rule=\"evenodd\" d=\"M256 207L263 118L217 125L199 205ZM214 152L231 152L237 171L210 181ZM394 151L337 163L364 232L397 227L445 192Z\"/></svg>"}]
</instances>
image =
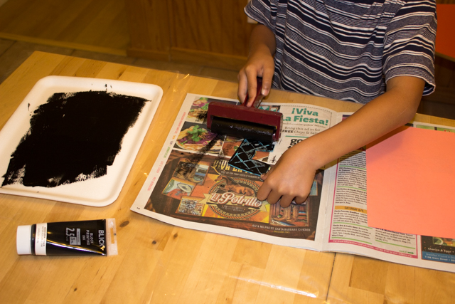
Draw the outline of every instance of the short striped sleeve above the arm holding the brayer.
<instances>
[{"instance_id":1,"label":"short striped sleeve above the arm holding the brayer","mask_svg":"<svg viewBox=\"0 0 455 304\"><path fill-rule=\"evenodd\" d=\"M251 0L245 6L245 14L275 33L277 25L277 3L274 0Z\"/></svg>"}]
</instances>

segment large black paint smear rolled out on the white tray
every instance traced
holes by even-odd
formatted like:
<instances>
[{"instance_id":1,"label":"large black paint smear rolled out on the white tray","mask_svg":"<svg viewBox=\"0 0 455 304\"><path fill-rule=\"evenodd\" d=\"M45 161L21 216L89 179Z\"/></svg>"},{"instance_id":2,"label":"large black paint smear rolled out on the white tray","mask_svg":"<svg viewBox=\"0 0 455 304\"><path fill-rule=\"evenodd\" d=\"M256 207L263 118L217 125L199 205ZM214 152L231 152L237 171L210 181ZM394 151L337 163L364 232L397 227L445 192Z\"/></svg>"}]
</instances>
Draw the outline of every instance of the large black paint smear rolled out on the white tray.
<instances>
[{"instance_id":1,"label":"large black paint smear rolled out on the white tray","mask_svg":"<svg viewBox=\"0 0 455 304\"><path fill-rule=\"evenodd\" d=\"M33 112L2 186L57 187L102 177L146 101L101 91L55 93Z\"/></svg>"}]
</instances>

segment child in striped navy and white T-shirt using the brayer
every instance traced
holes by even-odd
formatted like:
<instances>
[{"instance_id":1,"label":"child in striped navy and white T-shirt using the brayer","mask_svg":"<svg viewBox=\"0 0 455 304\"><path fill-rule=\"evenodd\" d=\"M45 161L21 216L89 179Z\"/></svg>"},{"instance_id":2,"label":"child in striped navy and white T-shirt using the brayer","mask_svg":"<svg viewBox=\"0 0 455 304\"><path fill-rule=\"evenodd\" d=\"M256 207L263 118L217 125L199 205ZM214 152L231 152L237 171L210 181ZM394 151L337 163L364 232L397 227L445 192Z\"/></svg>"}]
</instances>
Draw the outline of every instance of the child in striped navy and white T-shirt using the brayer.
<instances>
[{"instance_id":1,"label":"child in striped navy and white T-shirt using the brayer","mask_svg":"<svg viewBox=\"0 0 455 304\"><path fill-rule=\"evenodd\" d=\"M256 77L271 87L365 106L291 147L262 177L257 198L301 204L316 169L414 117L434 91L434 0L252 0L258 21L239 73L238 95L251 105Z\"/></svg>"}]
</instances>

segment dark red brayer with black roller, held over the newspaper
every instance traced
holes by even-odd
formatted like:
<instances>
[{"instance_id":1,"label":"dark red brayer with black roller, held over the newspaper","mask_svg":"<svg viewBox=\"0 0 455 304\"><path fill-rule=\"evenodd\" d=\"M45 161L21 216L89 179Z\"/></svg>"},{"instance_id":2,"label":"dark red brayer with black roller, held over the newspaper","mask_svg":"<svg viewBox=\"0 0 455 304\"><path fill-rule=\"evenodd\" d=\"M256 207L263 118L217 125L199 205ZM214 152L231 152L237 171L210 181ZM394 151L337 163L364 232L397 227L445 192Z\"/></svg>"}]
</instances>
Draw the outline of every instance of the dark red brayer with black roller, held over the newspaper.
<instances>
[{"instance_id":1,"label":"dark red brayer with black roller, held over the newspaper","mask_svg":"<svg viewBox=\"0 0 455 304\"><path fill-rule=\"evenodd\" d=\"M262 98L262 79L257 79L257 94L252 107L247 107L248 95L242 105L214 101L208 105L207 127L220 135L277 142L282 130L283 115L280 112L258 109Z\"/></svg>"}]
</instances>

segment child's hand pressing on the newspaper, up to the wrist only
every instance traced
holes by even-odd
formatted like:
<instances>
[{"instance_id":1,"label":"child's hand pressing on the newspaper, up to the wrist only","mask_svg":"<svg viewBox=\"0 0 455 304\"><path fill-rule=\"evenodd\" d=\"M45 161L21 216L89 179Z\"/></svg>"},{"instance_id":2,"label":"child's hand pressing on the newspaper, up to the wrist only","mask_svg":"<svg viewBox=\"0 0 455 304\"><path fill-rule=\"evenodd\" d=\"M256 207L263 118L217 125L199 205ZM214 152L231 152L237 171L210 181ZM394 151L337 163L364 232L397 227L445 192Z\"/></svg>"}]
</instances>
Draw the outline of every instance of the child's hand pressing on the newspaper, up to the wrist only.
<instances>
[{"instance_id":1,"label":"child's hand pressing on the newspaper, up to the wrist only","mask_svg":"<svg viewBox=\"0 0 455 304\"><path fill-rule=\"evenodd\" d=\"M319 167L315 167L311 157L306 157L304 142L291 147L279 158L277 164L262 176L264 184L257 192L257 199L267 199L269 204L279 201L287 207L294 200L303 203L311 191L314 175Z\"/></svg>"}]
</instances>

